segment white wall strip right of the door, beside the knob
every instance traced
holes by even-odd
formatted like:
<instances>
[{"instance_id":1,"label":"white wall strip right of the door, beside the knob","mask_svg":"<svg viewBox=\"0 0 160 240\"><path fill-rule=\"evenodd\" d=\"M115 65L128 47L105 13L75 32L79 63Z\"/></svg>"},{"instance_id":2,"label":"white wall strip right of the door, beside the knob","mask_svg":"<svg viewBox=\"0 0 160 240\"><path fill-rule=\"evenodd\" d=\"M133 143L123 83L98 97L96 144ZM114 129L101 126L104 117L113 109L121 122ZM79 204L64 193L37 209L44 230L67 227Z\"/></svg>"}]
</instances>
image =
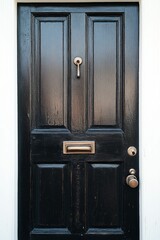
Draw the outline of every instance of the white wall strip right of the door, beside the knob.
<instances>
[{"instance_id":1,"label":"white wall strip right of the door, beside the knob","mask_svg":"<svg viewBox=\"0 0 160 240\"><path fill-rule=\"evenodd\" d=\"M141 236L160 239L160 1L141 1Z\"/></svg>"}]
</instances>

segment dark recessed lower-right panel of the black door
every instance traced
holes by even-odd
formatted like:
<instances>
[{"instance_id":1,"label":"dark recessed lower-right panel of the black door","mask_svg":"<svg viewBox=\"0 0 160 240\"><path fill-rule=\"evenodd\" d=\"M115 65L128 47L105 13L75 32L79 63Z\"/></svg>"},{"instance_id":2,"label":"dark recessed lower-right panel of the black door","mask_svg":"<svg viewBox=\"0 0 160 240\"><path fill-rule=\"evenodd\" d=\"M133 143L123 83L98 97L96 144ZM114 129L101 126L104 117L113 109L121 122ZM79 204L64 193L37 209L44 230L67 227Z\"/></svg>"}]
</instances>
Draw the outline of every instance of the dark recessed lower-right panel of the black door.
<instances>
[{"instance_id":1,"label":"dark recessed lower-right panel of the black door","mask_svg":"<svg viewBox=\"0 0 160 240\"><path fill-rule=\"evenodd\" d=\"M94 184L92 184L94 183ZM122 226L122 173L119 164L96 163L88 172L89 228Z\"/></svg>"}]
</instances>

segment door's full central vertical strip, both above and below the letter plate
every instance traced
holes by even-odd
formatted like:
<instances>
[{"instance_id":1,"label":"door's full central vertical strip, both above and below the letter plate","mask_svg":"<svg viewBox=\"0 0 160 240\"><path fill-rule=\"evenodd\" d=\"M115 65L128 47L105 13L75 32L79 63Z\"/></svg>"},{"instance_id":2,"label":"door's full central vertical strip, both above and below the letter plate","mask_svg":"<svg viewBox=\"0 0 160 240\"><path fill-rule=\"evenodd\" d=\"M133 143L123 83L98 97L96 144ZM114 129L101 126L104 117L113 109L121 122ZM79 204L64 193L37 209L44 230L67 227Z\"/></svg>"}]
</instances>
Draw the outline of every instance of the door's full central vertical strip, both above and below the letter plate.
<instances>
[{"instance_id":1,"label":"door's full central vertical strip, both above and below the letter plate","mask_svg":"<svg viewBox=\"0 0 160 240\"><path fill-rule=\"evenodd\" d=\"M77 139L85 137L86 129L86 19L84 13L71 13L71 132ZM74 29L74 31L73 31ZM80 77L77 77L76 57L82 58ZM82 233L85 229L85 160L72 157L72 232Z\"/></svg>"}]
</instances>

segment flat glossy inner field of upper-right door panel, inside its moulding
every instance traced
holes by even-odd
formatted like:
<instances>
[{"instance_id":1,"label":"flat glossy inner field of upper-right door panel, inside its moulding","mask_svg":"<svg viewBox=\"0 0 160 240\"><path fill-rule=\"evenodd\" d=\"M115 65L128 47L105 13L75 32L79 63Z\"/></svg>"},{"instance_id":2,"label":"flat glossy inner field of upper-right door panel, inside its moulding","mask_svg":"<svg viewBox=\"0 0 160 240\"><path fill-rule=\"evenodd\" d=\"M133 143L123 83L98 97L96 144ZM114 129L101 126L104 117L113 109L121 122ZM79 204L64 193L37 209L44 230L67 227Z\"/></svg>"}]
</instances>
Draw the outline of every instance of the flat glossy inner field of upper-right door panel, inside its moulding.
<instances>
[{"instance_id":1,"label":"flat glossy inner field of upper-right door panel, inside its moulding","mask_svg":"<svg viewBox=\"0 0 160 240\"><path fill-rule=\"evenodd\" d=\"M94 22L93 32L94 125L115 125L116 24Z\"/></svg>"}]
</instances>

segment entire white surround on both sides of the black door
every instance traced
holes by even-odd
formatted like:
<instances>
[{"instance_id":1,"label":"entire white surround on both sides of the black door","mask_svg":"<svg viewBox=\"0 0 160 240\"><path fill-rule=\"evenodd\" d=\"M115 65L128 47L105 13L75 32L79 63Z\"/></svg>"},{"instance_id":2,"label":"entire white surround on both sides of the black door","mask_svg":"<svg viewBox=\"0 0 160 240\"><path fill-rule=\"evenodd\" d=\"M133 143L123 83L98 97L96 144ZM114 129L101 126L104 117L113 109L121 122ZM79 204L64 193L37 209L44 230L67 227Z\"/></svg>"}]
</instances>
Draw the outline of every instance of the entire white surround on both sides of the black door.
<instances>
[{"instance_id":1,"label":"entire white surround on both sides of the black door","mask_svg":"<svg viewBox=\"0 0 160 240\"><path fill-rule=\"evenodd\" d=\"M140 6L141 240L158 240L160 239L160 1L142 0ZM0 0L0 239L2 240L17 240L16 14L16 1Z\"/></svg>"}]
</instances>

